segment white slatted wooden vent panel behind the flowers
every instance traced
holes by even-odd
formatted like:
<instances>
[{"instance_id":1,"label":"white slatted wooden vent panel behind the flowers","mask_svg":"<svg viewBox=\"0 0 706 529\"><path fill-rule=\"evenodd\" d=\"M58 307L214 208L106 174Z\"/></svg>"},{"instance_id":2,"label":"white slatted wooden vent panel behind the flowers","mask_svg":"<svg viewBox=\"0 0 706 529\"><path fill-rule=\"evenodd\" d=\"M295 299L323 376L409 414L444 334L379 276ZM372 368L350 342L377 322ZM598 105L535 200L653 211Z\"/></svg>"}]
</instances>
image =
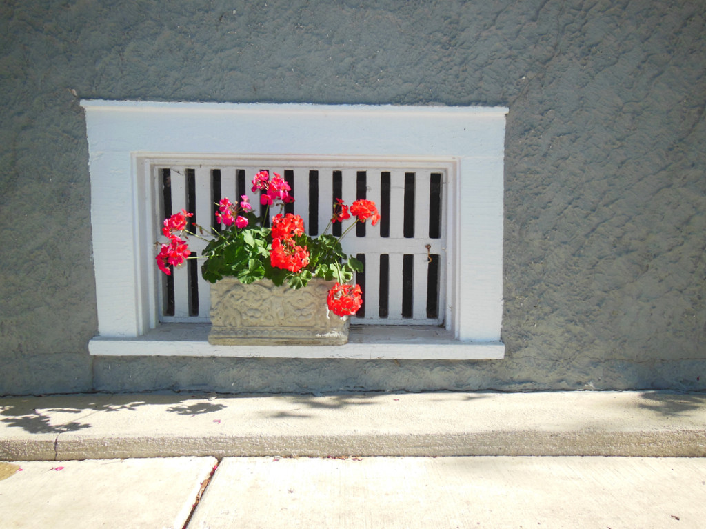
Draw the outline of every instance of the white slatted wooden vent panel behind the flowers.
<instances>
[{"instance_id":1,"label":"white slatted wooden vent panel behind the flowers","mask_svg":"<svg viewBox=\"0 0 706 529\"><path fill-rule=\"evenodd\" d=\"M249 162L208 163L176 160L152 165L155 182L155 234L162 220L181 209L195 213L193 222L217 229L214 213L223 196L235 200L251 191L256 172L277 172L292 187L295 202L285 212L304 218L306 232L315 236L331 218L334 198L347 204L357 198L375 201L378 225L358 225L342 239L347 254L365 264L356 282L364 305L352 323L443 325L445 319L445 188L447 168L438 165L365 165L361 162L287 165ZM257 207L257 206L256 206ZM270 218L279 209L270 210ZM347 227L348 220L343 229ZM340 235L342 225L333 226ZM329 227L331 232L332 227ZM205 242L190 238L193 255ZM171 276L160 275L160 321L208 322L210 283L201 278L201 260L189 260Z\"/></svg>"}]
</instances>

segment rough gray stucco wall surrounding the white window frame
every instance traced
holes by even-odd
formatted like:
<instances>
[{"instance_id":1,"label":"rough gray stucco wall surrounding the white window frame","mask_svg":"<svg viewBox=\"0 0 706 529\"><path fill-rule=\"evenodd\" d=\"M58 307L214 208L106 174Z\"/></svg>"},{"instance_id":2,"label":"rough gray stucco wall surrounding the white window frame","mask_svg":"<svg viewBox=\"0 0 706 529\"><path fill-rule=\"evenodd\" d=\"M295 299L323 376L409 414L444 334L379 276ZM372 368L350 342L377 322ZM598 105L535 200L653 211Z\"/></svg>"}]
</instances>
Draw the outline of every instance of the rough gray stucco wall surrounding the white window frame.
<instances>
[{"instance_id":1,"label":"rough gray stucco wall surrounding the white window frame","mask_svg":"<svg viewBox=\"0 0 706 529\"><path fill-rule=\"evenodd\" d=\"M4 1L0 394L706 389L705 23L688 0ZM79 98L507 105L505 359L90 357Z\"/></svg>"}]
</instances>

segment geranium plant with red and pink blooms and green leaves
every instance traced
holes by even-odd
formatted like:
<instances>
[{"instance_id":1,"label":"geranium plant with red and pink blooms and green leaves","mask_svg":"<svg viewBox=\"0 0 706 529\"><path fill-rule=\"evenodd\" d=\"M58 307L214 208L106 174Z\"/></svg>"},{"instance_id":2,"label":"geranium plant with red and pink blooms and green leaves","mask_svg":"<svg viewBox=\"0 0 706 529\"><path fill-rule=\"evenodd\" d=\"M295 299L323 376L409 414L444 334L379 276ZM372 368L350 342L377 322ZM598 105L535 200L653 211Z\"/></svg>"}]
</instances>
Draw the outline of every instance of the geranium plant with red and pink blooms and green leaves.
<instances>
[{"instance_id":1,"label":"geranium plant with red and pink blooms and green leaves","mask_svg":"<svg viewBox=\"0 0 706 529\"><path fill-rule=\"evenodd\" d=\"M341 249L340 240L357 222L371 220L374 226L380 220L375 203L360 199L350 206L337 198L333 203L331 220L318 237L309 237L304 231L304 220L299 215L284 213L286 203L294 202L289 194L291 188L279 174L261 171L252 181L252 191L260 191L260 203L265 212L258 216L246 195L241 200L232 202L222 198L218 203L216 220L221 230L208 230L213 239L203 250L200 258L205 262L201 266L201 275L210 283L225 276L234 276L241 283L253 283L261 279L270 279L275 285L285 283L294 289L306 286L314 278L334 281L335 285L328 292L328 307L338 316L355 314L362 304L359 285L350 284L354 272L362 272L363 265L353 256L347 256ZM270 208L280 208L267 227ZM196 232L187 230L193 213L181 210L164 220L162 233L169 239L160 245L157 266L169 275L169 265L179 266L191 252L186 239L189 236L203 238L207 231L194 225ZM340 237L326 233L335 222L355 219Z\"/></svg>"}]
</instances>

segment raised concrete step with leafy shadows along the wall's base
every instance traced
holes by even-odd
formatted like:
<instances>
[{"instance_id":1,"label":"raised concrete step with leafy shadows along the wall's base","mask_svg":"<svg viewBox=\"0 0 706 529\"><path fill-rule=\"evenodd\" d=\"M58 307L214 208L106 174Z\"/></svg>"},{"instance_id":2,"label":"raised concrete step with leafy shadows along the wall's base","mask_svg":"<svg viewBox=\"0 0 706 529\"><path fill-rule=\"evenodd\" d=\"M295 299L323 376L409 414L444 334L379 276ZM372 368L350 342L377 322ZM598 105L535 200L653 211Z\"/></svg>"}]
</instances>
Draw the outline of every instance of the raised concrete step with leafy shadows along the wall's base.
<instances>
[{"instance_id":1,"label":"raised concrete step with leafy shadows along the wall's base","mask_svg":"<svg viewBox=\"0 0 706 529\"><path fill-rule=\"evenodd\" d=\"M706 456L706 393L0 398L0 460Z\"/></svg>"}]
</instances>

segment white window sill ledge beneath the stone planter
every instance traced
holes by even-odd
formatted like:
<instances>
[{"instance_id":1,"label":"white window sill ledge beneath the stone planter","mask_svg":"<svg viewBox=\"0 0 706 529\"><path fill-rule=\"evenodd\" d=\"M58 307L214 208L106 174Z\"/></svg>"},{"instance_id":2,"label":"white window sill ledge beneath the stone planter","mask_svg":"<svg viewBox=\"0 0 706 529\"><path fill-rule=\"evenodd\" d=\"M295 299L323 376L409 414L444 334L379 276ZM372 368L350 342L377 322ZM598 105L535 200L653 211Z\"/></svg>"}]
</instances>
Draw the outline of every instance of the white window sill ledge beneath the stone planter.
<instances>
[{"instance_id":1,"label":"white window sill ledge beneath the stone planter","mask_svg":"<svg viewBox=\"0 0 706 529\"><path fill-rule=\"evenodd\" d=\"M311 345L210 345L208 324L163 323L145 335L90 340L97 356L189 356L357 359L499 359L502 342L455 340L449 331L424 326L352 326L349 342L334 347Z\"/></svg>"}]
</instances>

